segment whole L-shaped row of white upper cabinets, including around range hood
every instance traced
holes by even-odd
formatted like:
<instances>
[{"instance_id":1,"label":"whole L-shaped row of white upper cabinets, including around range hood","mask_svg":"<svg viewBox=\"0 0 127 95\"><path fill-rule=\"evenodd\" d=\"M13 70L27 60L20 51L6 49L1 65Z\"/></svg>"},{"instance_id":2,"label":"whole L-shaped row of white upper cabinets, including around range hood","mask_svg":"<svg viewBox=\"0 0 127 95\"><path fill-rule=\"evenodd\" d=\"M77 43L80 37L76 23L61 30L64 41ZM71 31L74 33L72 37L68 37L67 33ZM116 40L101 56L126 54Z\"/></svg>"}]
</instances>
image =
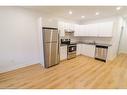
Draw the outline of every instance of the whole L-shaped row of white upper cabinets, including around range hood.
<instances>
[{"instance_id":1,"label":"whole L-shaped row of white upper cabinets, including around range hood","mask_svg":"<svg viewBox=\"0 0 127 95\"><path fill-rule=\"evenodd\" d=\"M65 36L65 31L74 31L74 36L112 37L113 21L87 25L59 22L58 29L60 36Z\"/></svg>"}]
</instances>

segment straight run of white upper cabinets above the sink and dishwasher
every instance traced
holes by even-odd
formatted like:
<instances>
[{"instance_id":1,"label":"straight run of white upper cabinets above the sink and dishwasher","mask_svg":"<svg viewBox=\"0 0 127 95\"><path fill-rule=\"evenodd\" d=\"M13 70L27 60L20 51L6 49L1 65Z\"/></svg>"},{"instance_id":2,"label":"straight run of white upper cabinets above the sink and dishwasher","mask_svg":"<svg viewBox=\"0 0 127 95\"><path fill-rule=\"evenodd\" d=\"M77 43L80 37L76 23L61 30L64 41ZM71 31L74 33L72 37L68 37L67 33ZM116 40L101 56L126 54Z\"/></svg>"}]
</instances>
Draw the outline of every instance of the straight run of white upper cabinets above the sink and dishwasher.
<instances>
[{"instance_id":1,"label":"straight run of white upper cabinets above the sink and dishwasher","mask_svg":"<svg viewBox=\"0 0 127 95\"><path fill-rule=\"evenodd\" d=\"M113 22L76 25L75 36L112 37Z\"/></svg>"}]
</instances>

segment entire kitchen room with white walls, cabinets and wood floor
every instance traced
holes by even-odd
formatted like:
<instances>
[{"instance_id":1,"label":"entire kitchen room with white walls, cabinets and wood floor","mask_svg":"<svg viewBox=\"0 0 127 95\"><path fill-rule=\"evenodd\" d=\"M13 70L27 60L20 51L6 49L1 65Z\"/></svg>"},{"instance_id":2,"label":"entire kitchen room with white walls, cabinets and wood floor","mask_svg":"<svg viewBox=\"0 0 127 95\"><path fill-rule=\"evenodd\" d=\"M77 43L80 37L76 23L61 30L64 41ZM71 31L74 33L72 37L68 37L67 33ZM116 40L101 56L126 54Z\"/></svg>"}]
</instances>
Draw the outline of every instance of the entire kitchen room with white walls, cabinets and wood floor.
<instances>
[{"instance_id":1,"label":"entire kitchen room with white walls, cabinets and wood floor","mask_svg":"<svg viewBox=\"0 0 127 95\"><path fill-rule=\"evenodd\" d=\"M126 88L126 10L0 7L0 88Z\"/></svg>"}]
</instances>

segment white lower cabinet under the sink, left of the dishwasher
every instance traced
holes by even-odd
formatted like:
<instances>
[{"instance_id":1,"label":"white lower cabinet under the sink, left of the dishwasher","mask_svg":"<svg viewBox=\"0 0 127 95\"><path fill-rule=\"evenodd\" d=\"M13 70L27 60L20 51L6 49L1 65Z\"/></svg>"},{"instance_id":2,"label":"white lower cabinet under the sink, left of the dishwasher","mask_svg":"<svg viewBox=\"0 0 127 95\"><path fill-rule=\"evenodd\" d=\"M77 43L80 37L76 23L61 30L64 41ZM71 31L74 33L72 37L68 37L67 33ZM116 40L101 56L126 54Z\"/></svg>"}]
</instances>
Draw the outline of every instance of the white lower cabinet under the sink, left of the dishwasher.
<instances>
[{"instance_id":1,"label":"white lower cabinet under the sink, left of the dishwasher","mask_svg":"<svg viewBox=\"0 0 127 95\"><path fill-rule=\"evenodd\" d=\"M95 45L89 44L78 44L77 45L77 54L82 54L89 57L94 57L95 54Z\"/></svg>"}]
</instances>

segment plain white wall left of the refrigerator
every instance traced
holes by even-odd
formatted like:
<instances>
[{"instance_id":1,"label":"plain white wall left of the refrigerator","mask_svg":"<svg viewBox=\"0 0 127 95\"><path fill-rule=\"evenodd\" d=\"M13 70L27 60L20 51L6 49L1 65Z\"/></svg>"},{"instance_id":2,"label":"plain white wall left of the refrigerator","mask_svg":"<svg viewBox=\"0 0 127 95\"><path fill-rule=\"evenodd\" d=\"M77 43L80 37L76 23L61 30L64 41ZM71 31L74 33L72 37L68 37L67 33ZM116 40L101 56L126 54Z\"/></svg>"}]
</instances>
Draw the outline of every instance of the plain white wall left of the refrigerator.
<instances>
[{"instance_id":1,"label":"plain white wall left of the refrigerator","mask_svg":"<svg viewBox=\"0 0 127 95\"><path fill-rule=\"evenodd\" d=\"M40 63L39 43L38 15L0 7L0 73Z\"/></svg>"}]
</instances>

